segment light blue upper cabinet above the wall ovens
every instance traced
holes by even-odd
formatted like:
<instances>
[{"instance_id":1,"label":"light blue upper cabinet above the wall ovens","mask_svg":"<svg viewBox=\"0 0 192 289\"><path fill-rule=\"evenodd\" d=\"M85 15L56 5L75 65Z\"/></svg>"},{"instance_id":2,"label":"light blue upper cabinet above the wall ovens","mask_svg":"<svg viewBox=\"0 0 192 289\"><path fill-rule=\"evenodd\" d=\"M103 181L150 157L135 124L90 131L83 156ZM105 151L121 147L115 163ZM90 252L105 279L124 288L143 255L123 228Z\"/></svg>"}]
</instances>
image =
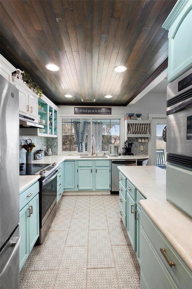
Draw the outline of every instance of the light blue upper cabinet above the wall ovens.
<instances>
[{"instance_id":1,"label":"light blue upper cabinet above the wall ovens","mask_svg":"<svg viewBox=\"0 0 192 289\"><path fill-rule=\"evenodd\" d=\"M162 27L169 30L170 83L192 67L192 0L179 0Z\"/></svg>"}]
</instances>

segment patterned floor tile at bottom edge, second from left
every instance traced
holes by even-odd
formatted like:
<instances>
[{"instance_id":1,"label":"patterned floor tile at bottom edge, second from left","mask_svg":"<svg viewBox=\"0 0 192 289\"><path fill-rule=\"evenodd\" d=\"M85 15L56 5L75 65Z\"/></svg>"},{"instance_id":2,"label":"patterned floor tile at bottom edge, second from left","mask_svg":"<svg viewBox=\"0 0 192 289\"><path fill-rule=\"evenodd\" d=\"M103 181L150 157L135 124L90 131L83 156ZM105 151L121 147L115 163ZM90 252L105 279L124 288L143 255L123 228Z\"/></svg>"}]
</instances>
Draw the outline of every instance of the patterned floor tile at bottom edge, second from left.
<instances>
[{"instance_id":1,"label":"patterned floor tile at bottom edge, second from left","mask_svg":"<svg viewBox=\"0 0 192 289\"><path fill-rule=\"evenodd\" d=\"M87 269L59 269L54 289L86 289Z\"/></svg>"}]
</instances>

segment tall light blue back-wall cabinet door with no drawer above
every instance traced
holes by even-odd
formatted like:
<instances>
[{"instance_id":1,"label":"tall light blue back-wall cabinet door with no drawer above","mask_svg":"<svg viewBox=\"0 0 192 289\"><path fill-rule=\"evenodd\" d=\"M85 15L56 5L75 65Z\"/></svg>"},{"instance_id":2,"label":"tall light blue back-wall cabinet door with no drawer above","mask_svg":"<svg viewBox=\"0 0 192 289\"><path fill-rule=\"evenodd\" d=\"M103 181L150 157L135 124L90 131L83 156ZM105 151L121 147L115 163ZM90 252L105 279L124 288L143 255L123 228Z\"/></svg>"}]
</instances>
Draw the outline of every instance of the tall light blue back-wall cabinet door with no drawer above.
<instances>
[{"instance_id":1,"label":"tall light blue back-wall cabinet door with no drawer above","mask_svg":"<svg viewBox=\"0 0 192 289\"><path fill-rule=\"evenodd\" d=\"M75 189L75 161L64 162L64 189Z\"/></svg>"}]
</instances>

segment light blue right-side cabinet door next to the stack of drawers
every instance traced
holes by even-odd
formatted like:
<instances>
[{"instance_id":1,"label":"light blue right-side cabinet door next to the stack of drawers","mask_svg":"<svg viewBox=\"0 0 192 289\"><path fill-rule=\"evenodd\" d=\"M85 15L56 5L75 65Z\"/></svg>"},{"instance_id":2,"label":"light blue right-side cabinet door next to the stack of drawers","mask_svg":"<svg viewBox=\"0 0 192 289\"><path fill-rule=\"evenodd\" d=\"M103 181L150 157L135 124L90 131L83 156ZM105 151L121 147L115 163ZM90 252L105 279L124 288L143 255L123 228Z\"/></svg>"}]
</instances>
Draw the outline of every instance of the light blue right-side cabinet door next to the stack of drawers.
<instances>
[{"instance_id":1,"label":"light blue right-side cabinet door next to the stack of drawers","mask_svg":"<svg viewBox=\"0 0 192 289\"><path fill-rule=\"evenodd\" d=\"M127 192L127 234L130 239L134 252L136 252L136 202Z\"/></svg>"}]
</instances>

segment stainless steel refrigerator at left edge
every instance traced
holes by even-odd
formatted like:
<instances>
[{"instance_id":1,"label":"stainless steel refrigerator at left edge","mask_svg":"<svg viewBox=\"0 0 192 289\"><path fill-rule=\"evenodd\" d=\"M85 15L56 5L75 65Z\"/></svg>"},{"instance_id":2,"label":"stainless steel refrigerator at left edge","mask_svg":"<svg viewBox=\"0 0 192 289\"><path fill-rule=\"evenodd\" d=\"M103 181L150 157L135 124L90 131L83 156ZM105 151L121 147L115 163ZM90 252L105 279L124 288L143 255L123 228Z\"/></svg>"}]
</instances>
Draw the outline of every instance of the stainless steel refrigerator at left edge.
<instances>
[{"instance_id":1,"label":"stainless steel refrigerator at left edge","mask_svg":"<svg viewBox=\"0 0 192 289\"><path fill-rule=\"evenodd\" d=\"M0 288L19 288L19 91L0 75Z\"/></svg>"}]
</instances>

